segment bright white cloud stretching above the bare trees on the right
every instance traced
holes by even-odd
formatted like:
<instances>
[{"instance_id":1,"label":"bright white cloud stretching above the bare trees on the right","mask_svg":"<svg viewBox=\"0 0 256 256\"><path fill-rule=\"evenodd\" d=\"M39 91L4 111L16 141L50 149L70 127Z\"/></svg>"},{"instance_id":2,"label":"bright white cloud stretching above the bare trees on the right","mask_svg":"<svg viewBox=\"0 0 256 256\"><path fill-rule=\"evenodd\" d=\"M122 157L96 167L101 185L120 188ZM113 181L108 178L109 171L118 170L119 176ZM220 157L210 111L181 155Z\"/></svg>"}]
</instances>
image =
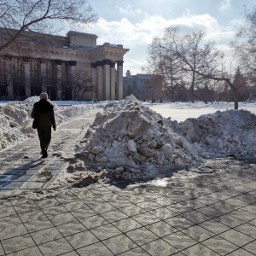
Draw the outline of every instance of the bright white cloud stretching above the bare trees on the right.
<instances>
[{"instance_id":1,"label":"bright white cloud stretching above the bare trees on the right","mask_svg":"<svg viewBox=\"0 0 256 256\"><path fill-rule=\"evenodd\" d=\"M120 11L131 11L131 6ZM142 15L140 13L140 15ZM230 29L220 26L211 15L191 15L189 9L176 19L165 19L161 15L143 14L143 19L132 23L128 18L108 21L101 18L87 32L98 36L97 44L123 44L130 51L125 55L126 69L131 73L141 73L141 67L146 64L148 44L154 37L162 36L167 26L178 26L181 32L190 33L198 30L207 32L207 40L216 41L217 44L229 44L234 34Z\"/></svg>"}]
</instances>

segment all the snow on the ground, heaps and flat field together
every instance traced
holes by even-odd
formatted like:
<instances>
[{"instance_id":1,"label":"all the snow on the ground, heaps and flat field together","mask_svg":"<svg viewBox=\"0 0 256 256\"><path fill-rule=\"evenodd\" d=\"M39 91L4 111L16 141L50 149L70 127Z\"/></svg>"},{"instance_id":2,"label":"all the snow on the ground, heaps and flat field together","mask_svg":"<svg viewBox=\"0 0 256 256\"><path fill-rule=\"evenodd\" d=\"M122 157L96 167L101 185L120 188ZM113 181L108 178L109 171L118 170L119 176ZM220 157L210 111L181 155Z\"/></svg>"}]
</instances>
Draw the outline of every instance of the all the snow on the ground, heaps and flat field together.
<instances>
[{"instance_id":1,"label":"all the snow on the ground, heaps and flat field together","mask_svg":"<svg viewBox=\"0 0 256 256\"><path fill-rule=\"evenodd\" d=\"M35 136L30 113L38 99L0 103L0 150ZM219 157L256 156L253 102L240 103L239 110L233 110L233 103L152 104L134 96L119 102L54 104L57 125L84 110L103 108L67 167L68 182L77 186L98 177L141 180Z\"/></svg>"}]
</instances>

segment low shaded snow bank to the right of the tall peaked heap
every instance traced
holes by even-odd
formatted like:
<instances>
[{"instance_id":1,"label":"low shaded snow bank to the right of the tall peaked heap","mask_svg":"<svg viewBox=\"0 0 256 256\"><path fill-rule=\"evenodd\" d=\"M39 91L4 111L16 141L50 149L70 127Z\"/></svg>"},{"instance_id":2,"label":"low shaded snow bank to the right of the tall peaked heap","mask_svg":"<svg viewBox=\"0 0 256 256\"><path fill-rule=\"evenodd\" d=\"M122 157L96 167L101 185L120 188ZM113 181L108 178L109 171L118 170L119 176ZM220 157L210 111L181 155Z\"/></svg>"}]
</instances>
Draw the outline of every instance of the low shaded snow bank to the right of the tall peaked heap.
<instances>
[{"instance_id":1,"label":"low shaded snow bank to the right of the tall peaked heap","mask_svg":"<svg viewBox=\"0 0 256 256\"><path fill-rule=\"evenodd\" d=\"M256 115L247 110L217 111L186 119L176 127L203 157L256 155Z\"/></svg>"}]
</instances>

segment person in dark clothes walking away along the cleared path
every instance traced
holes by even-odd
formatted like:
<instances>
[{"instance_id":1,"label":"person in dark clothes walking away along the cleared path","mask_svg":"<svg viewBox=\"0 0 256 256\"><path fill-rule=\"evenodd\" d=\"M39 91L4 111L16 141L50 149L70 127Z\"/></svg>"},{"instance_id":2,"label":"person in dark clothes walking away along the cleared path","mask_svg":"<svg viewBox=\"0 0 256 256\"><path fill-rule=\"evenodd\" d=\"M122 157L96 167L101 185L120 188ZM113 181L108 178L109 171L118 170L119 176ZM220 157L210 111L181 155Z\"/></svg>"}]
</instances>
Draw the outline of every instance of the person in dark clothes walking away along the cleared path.
<instances>
[{"instance_id":1,"label":"person in dark clothes walking away along the cleared path","mask_svg":"<svg viewBox=\"0 0 256 256\"><path fill-rule=\"evenodd\" d=\"M31 113L32 119L38 119L38 137L40 141L41 154L47 158L47 149L51 139L51 127L56 131L54 106L49 101L46 92L40 94L40 101L34 103Z\"/></svg>"}]
</instances>

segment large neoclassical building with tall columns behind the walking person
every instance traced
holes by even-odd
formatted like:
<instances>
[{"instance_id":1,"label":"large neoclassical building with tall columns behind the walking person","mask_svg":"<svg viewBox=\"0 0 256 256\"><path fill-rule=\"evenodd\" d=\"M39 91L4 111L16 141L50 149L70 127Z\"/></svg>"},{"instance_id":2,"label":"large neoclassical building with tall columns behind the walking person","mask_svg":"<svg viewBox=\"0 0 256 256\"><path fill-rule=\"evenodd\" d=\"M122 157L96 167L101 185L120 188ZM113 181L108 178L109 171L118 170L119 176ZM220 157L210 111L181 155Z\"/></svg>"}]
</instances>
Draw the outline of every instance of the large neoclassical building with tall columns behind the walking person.
<instances>
[{"instance_id":1,"label":"large neoclassical building with tall columns behind the walking person","mask_svg":"<svg viewBox=\"0 0 256 256\"><path fill-rule=\"evenodd\" d=\"M1 29L0 29L1 32ZM3 34L0 35L2 42ZM23 100L45 91L51 100L123 99L122 44L96 44L95 34L23 34L0 52L0 98Z\"/></svg>"}]
</instances>

